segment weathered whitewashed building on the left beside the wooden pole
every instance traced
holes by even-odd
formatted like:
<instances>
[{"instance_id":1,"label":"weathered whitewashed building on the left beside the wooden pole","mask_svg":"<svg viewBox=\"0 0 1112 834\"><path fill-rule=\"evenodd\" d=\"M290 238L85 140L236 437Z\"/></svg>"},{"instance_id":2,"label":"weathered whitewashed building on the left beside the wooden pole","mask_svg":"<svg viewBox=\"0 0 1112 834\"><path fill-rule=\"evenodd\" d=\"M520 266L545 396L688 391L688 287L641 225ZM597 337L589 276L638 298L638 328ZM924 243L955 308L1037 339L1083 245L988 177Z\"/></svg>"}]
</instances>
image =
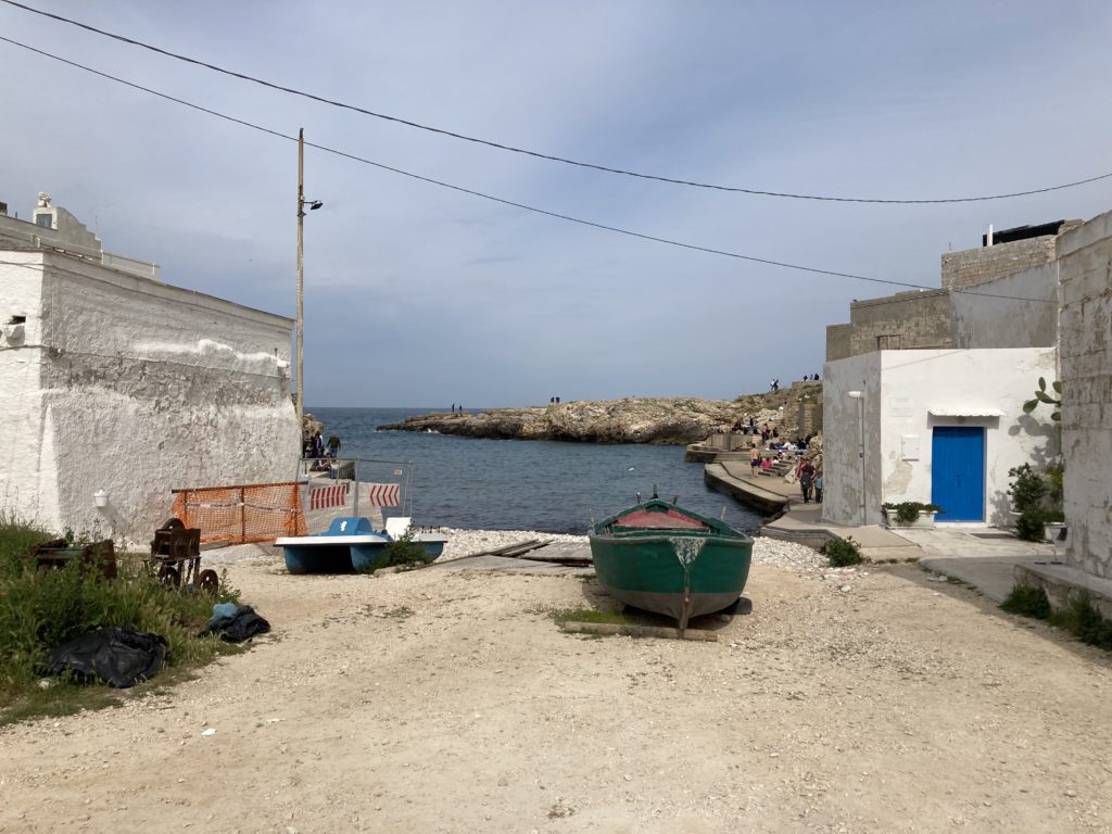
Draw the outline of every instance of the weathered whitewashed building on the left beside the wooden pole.
<instances>
[{"instance_id":1,"label":"weathered whitewashed building on the left beside the wooden pole","mask_svg":"<svg viewBox=\"0 0 1112 834\"><path fill-rule=\"evenodd\" d=\"M0 215L0 510L145 543L173 488L294 477L291 319L162 284L46 195L32 220Z\"/></svg>"}]
</instances>

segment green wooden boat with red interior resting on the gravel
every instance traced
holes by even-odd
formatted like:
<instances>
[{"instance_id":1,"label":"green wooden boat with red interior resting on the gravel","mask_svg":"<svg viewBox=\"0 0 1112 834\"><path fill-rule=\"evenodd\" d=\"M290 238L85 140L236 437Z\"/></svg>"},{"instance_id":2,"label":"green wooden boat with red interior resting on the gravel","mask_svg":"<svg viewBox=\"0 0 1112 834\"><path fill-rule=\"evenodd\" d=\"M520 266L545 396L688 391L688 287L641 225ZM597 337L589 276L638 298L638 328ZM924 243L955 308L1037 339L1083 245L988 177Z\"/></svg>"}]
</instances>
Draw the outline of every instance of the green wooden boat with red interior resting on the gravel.
<instances>
[{"instance_id":1,"label":"green wooden boat with red interior resting on the gravel","mask_svg":"<svg viewBox=\"0 0 1112 834\"><path fill-rule=\"evenodd\" d=\"M744 533L655 496L593 525L588 538L607 593L674 617L681 633L737 602L753 557Z\"/></svg>"}]
</instances>

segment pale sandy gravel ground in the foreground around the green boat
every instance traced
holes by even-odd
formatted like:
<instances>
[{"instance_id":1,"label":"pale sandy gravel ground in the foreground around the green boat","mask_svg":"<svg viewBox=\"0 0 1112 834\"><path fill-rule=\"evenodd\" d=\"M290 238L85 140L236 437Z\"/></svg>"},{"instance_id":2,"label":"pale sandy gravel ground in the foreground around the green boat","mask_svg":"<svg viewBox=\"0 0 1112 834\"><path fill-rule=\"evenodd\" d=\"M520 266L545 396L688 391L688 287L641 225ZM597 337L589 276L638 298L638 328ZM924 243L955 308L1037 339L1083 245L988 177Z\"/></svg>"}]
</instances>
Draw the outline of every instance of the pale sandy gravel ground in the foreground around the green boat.
<instances>
[{"instance_id":1,"label":"pale sandy gravel ground in the foreground around the green boat","mask_svg":"<svg viewBox=\"0 0 1112 834\"><path fill-rule=\"evenodd\" d=\"M275 632L0 731L0 831L1112 831L1106 655L793 547L758 542L717 643L562 634L546 612L607 603L577 576L292 577L237 549Z\"/></svg>"}]
</instances>

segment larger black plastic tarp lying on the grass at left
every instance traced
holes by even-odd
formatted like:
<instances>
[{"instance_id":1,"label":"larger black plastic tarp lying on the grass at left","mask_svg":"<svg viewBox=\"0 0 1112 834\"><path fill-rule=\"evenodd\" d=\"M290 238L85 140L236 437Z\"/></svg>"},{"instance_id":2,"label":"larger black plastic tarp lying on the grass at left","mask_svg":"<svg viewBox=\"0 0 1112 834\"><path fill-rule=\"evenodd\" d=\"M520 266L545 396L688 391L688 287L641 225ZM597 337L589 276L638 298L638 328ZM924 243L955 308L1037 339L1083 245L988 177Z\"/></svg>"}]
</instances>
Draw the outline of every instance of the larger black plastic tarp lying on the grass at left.
<instances>
[{"instance_id":1,"label":"larger black plastic tarp lying on the grass at left","mask_svg":"<svg viewBox=\"0 0 1112 834\"><path fill-rule=\"evenodd\" d=\"M111 626L86 632L50 653L46 673L77 674L126 689L153 677L166 661L166 639Z\"/></svg>"}]
</instances>

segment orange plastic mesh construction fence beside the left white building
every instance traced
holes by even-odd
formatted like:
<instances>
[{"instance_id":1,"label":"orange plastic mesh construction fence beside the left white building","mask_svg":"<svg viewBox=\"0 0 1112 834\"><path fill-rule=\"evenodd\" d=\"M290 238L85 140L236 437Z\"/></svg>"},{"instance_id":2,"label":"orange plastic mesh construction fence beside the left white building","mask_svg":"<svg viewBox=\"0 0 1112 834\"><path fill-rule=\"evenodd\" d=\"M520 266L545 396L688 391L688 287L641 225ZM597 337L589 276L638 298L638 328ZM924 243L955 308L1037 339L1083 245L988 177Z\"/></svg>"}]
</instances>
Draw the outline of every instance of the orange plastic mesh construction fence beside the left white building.
<instances>
[{"instance_id":1,"label":"orange plastic mesh construction fence beside the left white building","mask_svg":"<svg viewBox=\"0 0 1112 834\"><path fill-rule=\"evenodd\" d=\"M201 542L236 545L306 534L296 481L173 492L173 515L186 527L199 527Z\"/></svg>"}]
</instances>

